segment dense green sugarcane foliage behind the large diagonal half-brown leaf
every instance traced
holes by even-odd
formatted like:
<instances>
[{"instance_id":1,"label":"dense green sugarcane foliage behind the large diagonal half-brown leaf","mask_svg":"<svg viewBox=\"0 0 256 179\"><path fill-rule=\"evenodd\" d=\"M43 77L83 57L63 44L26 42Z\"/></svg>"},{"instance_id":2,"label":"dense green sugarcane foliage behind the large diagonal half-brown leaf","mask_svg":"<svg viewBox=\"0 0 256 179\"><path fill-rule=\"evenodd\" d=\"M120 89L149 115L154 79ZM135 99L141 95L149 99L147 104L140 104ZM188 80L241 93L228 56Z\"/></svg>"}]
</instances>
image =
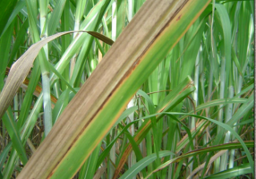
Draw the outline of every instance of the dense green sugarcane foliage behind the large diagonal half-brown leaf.
<instances>
[{"instance_id":1,"label":"dense green sugarcane foliage behind the large diagonal half-brown leaf","mask_svg":"<svg viewBox=\"0 0 256 179\"><path fill-rule=\"evenodd\" d=\"M20 0L6 23L0 11L0 89L8 69L32 44L68 30L97 31L115 41L143 2ZM213 0L75 178L252 177L253 4ZM10 12L10 4L0 8ZM19 174L109 48L76 32L43 47L1 118L0 178ZM191 81L194 87L183 91Z\"/></svg>"}]
</instances>

